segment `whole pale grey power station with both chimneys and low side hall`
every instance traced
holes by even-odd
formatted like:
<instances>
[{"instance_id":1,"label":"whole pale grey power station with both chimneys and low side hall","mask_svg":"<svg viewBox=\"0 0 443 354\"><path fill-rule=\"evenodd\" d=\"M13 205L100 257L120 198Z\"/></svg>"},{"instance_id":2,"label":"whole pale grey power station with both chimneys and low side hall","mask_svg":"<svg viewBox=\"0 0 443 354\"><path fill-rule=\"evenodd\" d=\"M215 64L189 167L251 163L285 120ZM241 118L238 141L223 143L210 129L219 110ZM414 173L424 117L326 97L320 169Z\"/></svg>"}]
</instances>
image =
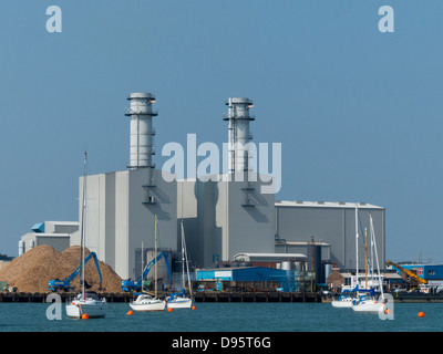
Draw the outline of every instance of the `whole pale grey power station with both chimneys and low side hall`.
<instances>
[{"instance_id":1,"label":"whole pale grey power station with both chimneys and low side hall","mask_svg":"<svg viewBox=\"0 0 443 354\"><path fill-rule=\"evenodd\" d=\"M272 184L269 176L254 170L250 162L251 134L249 98L229 98L228 169L210 178L177 180L154 164L155 96L132 93L130 117L131 152L127 169L86 177L86 247L110 264L123 279L141 270L141 248L153 254L154 218L157 218L158 248L178 261L181 222L190 269L230 262L236 256L281 253L321 254L321 260L340 268L356 268L356 208L359 210L360 267L364 267L364 227L371 212L380 263L384 264L384 208L350 202L276 201L264 192ZM165 178L165 176L167 178ZM82 191L79 183L79 222L82 223ZM78 227L79 223L76 223ZM34 238L32 237L34 235ZM35 244L39 232L20 241L23 251ZM47 240L51 244L50 240ZM70 246L80 244L80 231L70 233ZM51 244L52 246L52 244ZM311 254L312 256L312 254ZM145 262L146 256L144 256ZM174 263L174 261L173 261ZM174 269L174 264L173 269Z\"/></svg>"}]
</instances>

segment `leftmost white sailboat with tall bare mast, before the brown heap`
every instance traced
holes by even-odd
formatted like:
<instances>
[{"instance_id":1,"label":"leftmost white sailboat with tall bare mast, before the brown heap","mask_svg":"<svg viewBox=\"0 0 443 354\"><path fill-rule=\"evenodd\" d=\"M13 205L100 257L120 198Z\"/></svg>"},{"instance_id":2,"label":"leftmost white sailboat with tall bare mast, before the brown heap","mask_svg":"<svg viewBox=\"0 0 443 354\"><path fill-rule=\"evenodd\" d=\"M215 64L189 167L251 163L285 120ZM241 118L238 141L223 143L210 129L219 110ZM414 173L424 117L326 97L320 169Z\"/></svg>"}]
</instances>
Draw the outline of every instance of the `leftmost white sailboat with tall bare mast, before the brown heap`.
<instances>
[{"instance_id":1,"label":"leftmost white sailboat with tall bare mast, before the brown heap","mask_svg":"<svg viewBox=\"0 0 443 354\"><path fill-rule=\"evenodd\" d=\"M84 248L85 248L85 210L86 210L86 175L87 175L87 155L84 153L84 177L83 177L83 206L82 206L82 229L81 229L81 248L80 263L82 266L82 275L79 279L79 291L81 292L66 303L66 315L70 319L87 319L104 317L107 305L105 299L99 299L95 292L85 292L84 280ZM80 278L80 277L79 277Z\"/></svg>"}]
</instances>

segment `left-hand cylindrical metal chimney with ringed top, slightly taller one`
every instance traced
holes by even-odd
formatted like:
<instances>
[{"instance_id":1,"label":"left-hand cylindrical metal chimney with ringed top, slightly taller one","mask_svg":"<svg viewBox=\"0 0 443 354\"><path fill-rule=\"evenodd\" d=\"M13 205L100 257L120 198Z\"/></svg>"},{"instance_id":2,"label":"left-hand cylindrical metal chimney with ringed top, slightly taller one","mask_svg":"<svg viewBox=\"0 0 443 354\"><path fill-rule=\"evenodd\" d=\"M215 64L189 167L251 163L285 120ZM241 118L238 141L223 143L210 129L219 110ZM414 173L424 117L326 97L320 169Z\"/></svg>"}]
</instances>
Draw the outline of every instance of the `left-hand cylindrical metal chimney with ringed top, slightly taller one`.
<instances>
[{"instance_id":1,"label":"left-hand cylindrical metal chimney with ringed top, slightly taller one","mask_svg":"<svg viewBox=\"0 0 443 354\"><path fill-rule=\"evenodd\" d=\"M151 93L132 93L127 100L131 102L130 112L125 113L125 116L131 117L131 153L127 167L154 168L152 155L155 154L155 131L152 117L157 113L153 112L152 104L155 102L155 96Z\"/></svg>"}]
</instances>

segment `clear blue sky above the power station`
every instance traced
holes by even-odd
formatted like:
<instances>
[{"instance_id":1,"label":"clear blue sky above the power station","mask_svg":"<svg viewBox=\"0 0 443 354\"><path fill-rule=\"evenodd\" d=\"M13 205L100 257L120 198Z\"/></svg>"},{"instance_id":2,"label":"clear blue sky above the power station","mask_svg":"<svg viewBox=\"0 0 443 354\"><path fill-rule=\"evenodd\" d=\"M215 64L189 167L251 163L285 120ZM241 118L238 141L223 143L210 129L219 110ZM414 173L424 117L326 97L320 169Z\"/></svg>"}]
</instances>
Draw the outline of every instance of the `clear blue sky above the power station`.
<instances>
[{"instance_id":1,"label":"clear blue sky above the power station","mask_svg":"<svg viewBox=\"0 0 443 354\"><path fill-rule=\"evenodd\" d=\"M62 9L62 33L45 10ZM394 33L378 29L394 9ZM387 258L443 262L443 2L162 0L0 3L0 252L78 220L78 178L128 163L131 92L157 97L164 144L227 140L225 101L254 101L282 144L278 199L387 208Z\"/></svg>"}]
</instances>

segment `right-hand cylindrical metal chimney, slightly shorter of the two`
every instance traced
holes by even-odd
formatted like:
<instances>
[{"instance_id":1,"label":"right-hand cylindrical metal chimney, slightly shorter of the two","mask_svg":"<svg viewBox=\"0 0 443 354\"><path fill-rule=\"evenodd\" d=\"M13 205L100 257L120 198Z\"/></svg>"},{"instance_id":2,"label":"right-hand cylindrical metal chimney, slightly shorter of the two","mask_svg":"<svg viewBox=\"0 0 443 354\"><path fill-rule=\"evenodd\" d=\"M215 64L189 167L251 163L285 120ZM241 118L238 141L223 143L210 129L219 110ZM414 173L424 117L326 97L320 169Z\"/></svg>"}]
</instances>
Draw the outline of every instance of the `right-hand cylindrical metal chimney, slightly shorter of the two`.
<instances>
[{"instance_id":1,"label":"right-hand cylindrical metal chimney, slightly shorter of the two","mask_svg":"<svg viewBox=\"0 0 443 354\"><path fill-rule=\"evenodd\" d=\"M253 139L249 133L249 121L255 117L249 115L253 101L249 98L234 97L226 102L228 114L224 121L228 121L228 166L229 174L247 173L249 169L249 147Z\"/></svg>"}]
</instances>

